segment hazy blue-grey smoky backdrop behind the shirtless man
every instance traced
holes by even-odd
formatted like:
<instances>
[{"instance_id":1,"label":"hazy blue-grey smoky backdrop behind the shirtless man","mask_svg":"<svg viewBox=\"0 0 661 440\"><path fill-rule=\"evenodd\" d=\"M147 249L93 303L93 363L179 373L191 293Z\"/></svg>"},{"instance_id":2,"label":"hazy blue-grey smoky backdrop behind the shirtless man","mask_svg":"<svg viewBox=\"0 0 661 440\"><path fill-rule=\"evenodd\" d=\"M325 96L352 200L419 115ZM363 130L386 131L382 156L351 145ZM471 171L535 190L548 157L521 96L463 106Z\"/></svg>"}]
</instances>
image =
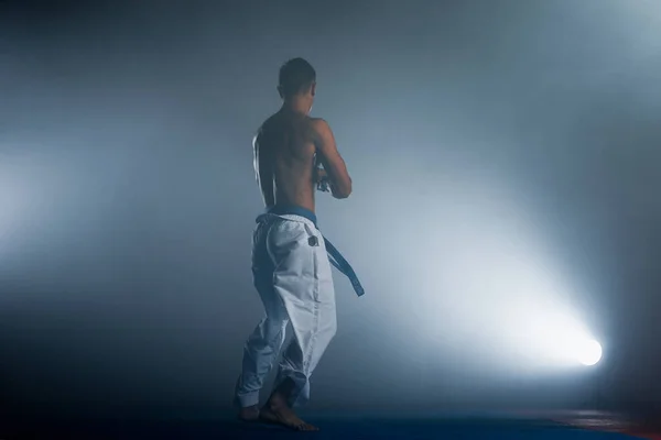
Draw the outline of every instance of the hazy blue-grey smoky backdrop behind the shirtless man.
<instances>
[{"instance_id":1,"label":"hazy blue-grey smoky backdrop behind the shirtless man","mask_svg":"<svg viewBox=\"0 0 661 440\"><path fill-rule=\"evenodd\" d=\"M660 29L654 0L0 1L4 402L229 409L250 142L303 56L355 187L317 213L367 289L336 277L313 408L657 405ZM576 312L602 363L522 355L513 304Z\"/></svg>"}]
</instances>

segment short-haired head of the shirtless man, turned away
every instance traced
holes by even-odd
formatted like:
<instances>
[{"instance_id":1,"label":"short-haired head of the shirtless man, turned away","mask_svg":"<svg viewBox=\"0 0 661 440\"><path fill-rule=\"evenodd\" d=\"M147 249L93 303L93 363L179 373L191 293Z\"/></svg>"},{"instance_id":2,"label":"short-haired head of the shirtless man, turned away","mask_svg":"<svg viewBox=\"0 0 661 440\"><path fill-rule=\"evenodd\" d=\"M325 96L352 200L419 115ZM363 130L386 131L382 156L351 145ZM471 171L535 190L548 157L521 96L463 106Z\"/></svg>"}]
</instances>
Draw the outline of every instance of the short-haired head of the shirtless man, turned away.
<instances>
[{"instance_id":1,"label":"short-haired head of the shirtless man, turned away","mask_svg":"<svg viewBox=\"0 0 661 440\"><path fill-rule=\"evenodd\" d=\"M316 73L305 59L293 58L280 67L278 92L285 105L294 105L307 113L315 91Z\"/></svg>"}]
</instances>

